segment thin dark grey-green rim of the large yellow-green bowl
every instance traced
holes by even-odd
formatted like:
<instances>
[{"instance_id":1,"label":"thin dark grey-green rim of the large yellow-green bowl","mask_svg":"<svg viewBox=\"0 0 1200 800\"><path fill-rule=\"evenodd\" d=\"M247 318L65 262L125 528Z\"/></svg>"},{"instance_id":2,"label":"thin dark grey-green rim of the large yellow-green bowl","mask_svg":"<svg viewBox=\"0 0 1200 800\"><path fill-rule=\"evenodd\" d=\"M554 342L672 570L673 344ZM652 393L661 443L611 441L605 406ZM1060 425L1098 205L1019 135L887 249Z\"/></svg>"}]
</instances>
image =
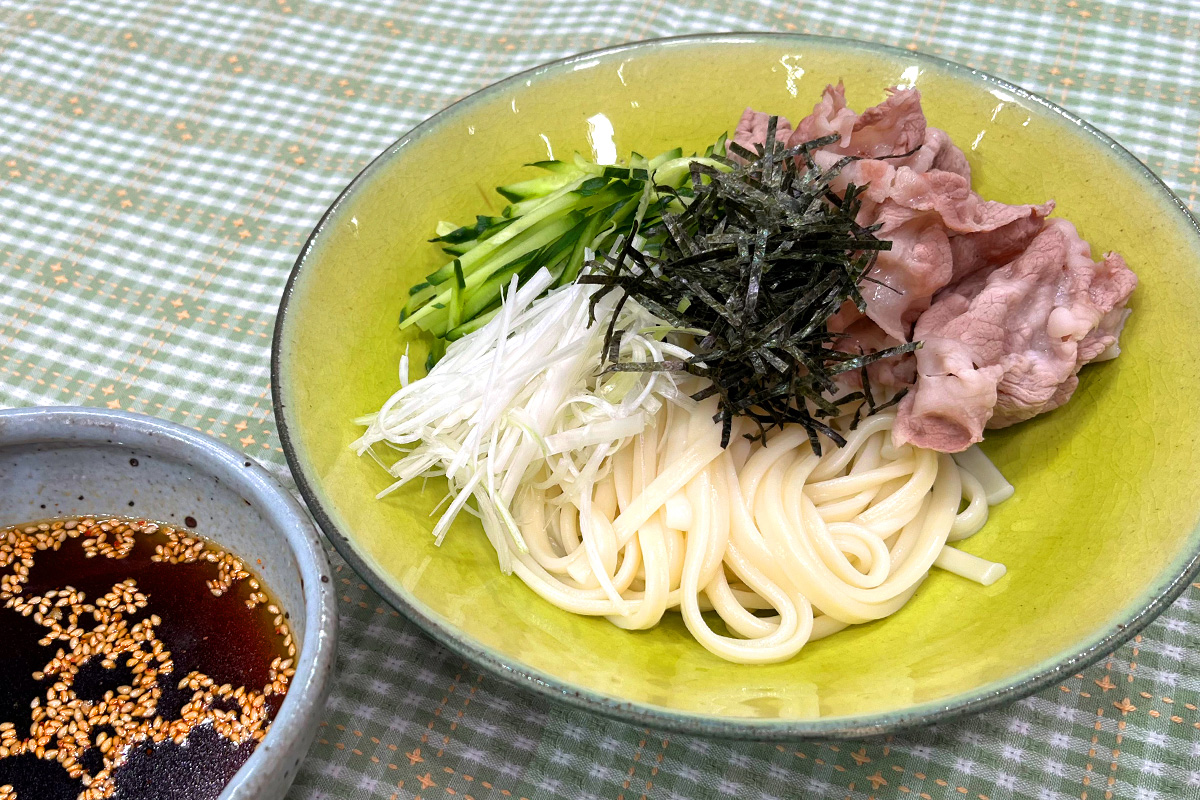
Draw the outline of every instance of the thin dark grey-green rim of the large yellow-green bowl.
<instances>
[{"instance_id":1,"label":"thin dark grey-green rim of the large yellow-green bowl","mask_svg":"<svg viewBox=\"0 0 1200 800\"><path fill-rule=\"evenodd\" d=\"M288 326L289 300L301 277L304 267L317 247L322 233L337 215L341 206L355 196L359 190L366 186L371 178L383 169L394 156L403 149L430 133L439 124L450 119L455 113L475 102L484 101L493 95L502 94L515 88L522 80L532 80L547 73L565 71L576 64L598 58L612 58L624 53L640 53L661 47L674 46L703 46L703 44L755 44L764 42L797 42L816 47L836 47L847 50L865 50L872 54L902 56L907 60L922 62L930 67L946 71L947 73L966 77L980 83L984 88L992 88L1006 91L1015 97L1034 103L1044 112L1057 115L1068 122L1074 124L1087 134L1103 143L1115 158L1122 160L1132 167L1141 180L1150 182L1151 187L1160 191L1192 225L1196 235L1200 236L1200 223L1188 210L1187 205L1175 194L1174 191L1153 173L1140 158L1133 155L1124 146L1118 144L1110 136L1105 134L1096 126L1091 125L1079 115L1057 106L1056 103L1024 89L1014 83L992 76L991 73L977 70L949 59L942 59L926 53L908 50L905 48L878 44L848 37L816 36L809 34L787 34L779 31L730 31L708 34L686 34L680 36L667 36L659 38L626 42L611 47L604 47L584 53L577 53L553 61L523 70L508 76L496 83L479 89L461 97L454 103L440 109L432 116L425 119L402 137L396 139L370 163L364 167L358 175L343 188L329 209L322 215L308 239L298 255L288 276L283 295L280 300L280 308L275 320L275 331L271 341L271 402L275 411L276 425L280 431L280 439L288 467L296 481L300 494L308 505L310 511L317 519L322 530L337 548L338 553L358 572L371 588L386 600L392 607L404 616L415 622L426 634L444 644L456 654L478 664L490 675L500 679L505 684L532 691L535 694L560 700L569 705L593 711L606 717L611 717L625 723L642 727L652 727L660 730L684 733L691 735L708 735L725 739L746 739L758 741L799 740L810 738L824 739L858 739L890 734L908 728L934 723L949 722L967 715L978 714L997 708L1006 703L1027 697L1055 681L1074 674L1111 652L1120 645L1128 642L1139 631L1145 628L1154 618L1163 613L1188 587L1188 584L1200 573L1200 542L1194 552L1186 553L1168 571L1164 571L1165 579L1154 584L1142 597L1148 597L1148 602L1127 618L1114 621L1099 628L1099 631L1086 639L1086 645L1076 651L1067 651L1034 666L1030 670L1019 674L1007 681L998 681L992 687L984 686L982 690L964 692L938 702L920 703L902 709L864 715L851 715L840 717L811 720L763 720L754 717L725 717L698 712L679 711L647 703L634 703L622 700L617 697L574 686L570 682L558 679L548 673L533 667L515 666L502 657L496 651L481 645L473 637L462 633L458 628L440 622L428 610L424 609L415 597L406 596L392 588L382 576L377 575L367 560L359 554L352 540L343 534L334 523L332 517L322 505L313 482L305 471L304 463L296 449L293 431L288 422L287 402L282 391L282 351L284 344L286 329ZM1192 535L1196 536L1200 528L1193 529ZM415 602L414 602L415 601Z\"/></svg>"}]
</instances>

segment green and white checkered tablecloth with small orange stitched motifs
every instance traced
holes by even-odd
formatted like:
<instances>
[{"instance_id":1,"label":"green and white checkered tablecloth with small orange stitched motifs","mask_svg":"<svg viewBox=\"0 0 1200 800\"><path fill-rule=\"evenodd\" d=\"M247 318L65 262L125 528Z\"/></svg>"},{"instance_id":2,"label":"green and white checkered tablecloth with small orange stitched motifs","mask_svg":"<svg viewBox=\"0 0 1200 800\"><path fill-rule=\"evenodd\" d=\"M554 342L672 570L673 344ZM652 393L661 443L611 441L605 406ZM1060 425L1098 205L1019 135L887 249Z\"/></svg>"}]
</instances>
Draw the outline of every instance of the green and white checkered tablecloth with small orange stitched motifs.
<instances>
[{"instance_id":1,"label":"green and white checkered tablecloth with small orange stitched motifs","mask_svg":"<svg viewBox=\"0 0 1200 800\"><path fill-rule=\"evenodd\" d=\"M155 414L289 480L270 410L274 313L354 174L511 72L724 30L982 67L1092 120L1195 203L1195 0L0 0L0 404ZM295 800L1200 798L1196 588L1111 657L1008 708L776 746L516 693L332 558L337 684Z\"/></svg>"}]
</instances>

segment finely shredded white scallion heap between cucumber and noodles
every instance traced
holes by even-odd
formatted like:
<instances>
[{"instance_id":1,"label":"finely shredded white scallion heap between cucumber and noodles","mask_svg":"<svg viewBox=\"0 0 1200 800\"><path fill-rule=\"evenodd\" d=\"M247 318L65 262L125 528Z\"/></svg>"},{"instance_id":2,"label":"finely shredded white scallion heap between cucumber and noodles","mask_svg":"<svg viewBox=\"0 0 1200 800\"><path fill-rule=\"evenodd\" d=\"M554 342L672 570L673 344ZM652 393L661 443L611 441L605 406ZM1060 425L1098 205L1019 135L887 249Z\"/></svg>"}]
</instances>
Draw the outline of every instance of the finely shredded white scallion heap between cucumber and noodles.
<instances>
[{"instance_id":1,"label":"finely shredded white scallion heap between cucumber and noodles","mask_svg":"<svg viewBox=\"0 0 1200 800\"><path fill-rule=\"evenodd\" d=\"M605 456L641 433L664 401L690 403L676 373L602 373L612 303L607 297L598 303L590 321L595 287L571 284L538 299L552 282L542 270L517 288L514 276L500 313L450 343L420 380L408 379L406 350L400 390L377 414L360 417L366 432L353 444L396 479L379 497L416 479L445 476L448 505L433 529L436 541L460 511L476 515L505 572L511 571L510 548L528 552L511 513L523 481L554 476L587 504ZM626 331L622 360L689 357L658 341L661 326L626 302L616 323L616 330ZM398 458L389 465L386 453Z\"/></svg>"}]
</instances>

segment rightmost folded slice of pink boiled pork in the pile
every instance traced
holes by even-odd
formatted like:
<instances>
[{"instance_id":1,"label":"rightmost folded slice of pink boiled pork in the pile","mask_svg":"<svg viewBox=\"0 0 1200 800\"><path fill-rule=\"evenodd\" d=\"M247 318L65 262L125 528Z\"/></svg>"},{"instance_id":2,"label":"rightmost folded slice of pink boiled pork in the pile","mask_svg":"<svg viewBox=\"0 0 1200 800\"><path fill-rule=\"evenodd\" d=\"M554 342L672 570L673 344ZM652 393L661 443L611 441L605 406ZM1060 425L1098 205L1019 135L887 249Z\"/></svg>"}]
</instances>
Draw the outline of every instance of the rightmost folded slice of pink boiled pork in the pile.
<instances>
[{"instance_id":1,"label":"rightmost folded slice of pink boiled pork in the pile","mask_svg":"<svg viewBox=\"0 0 1200 800\"><path fill-rule=\"evenodd\" d=\"M1066 219L1050 219L1006 266L948 289L917 320L916 387L895 443L958 452L1055 409L1079 369L1115 345L1136 276L1116 253L1093 261Z\"/></svg>"}]
</instances>

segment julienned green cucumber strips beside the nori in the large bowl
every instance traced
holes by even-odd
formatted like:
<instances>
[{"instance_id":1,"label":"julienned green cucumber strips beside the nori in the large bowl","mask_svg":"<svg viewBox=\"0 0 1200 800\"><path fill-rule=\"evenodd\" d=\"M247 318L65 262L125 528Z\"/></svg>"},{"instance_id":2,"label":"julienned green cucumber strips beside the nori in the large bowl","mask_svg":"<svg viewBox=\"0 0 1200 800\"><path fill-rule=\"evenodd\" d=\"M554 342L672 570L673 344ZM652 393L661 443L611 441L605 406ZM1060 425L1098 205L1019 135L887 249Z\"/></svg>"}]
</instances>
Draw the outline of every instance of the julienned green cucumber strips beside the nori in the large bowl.
<instances>
[{"instance_id":1,"label":"julienned green cucumber strips beside the nori in the large bowl","mask_svg":"<svg viewBox=\"0 0 1200 800\"><path fill-rule=\"evenodd\" d=\"M724 149L721 139L706 155L724 155ZM409 290L401 329L415 325L454 341L492 318L514 275L524 283L545 267L554 287L574 282L587 251L607 252L632 231L635 219L640 231L661 227L662 210L679 203L677 192L688 194L692 158L676 148L654 158L635 152L614 166L578 155L529 164L545 174L497 187L510 203L500 216L438 224L431 241L452 258Z\"/></svg>"}]
</instances>

